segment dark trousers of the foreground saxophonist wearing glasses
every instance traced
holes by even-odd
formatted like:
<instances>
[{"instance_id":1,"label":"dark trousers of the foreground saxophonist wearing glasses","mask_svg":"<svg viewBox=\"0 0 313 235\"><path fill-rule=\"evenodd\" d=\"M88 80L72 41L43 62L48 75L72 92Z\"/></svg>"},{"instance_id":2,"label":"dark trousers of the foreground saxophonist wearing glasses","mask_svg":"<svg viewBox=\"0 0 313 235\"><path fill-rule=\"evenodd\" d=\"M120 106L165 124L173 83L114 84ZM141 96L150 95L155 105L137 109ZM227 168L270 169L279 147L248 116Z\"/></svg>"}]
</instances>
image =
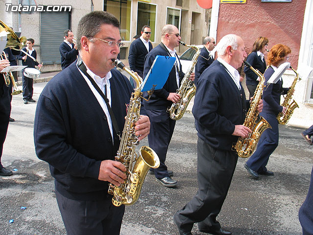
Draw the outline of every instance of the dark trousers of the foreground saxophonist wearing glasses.
<instances>
[{"instance_id":1,"label":"dark trousers of the foreground saxophonist wearing glasses","mask_svg":"<svg viewBox=\"0 0 313 235\"><path fill-rule=\"evenodd\" d=\"M55 194L67 235L119 235L125 206L115 207L112 197L79 201Z\"/></svg>"}]
</instances>

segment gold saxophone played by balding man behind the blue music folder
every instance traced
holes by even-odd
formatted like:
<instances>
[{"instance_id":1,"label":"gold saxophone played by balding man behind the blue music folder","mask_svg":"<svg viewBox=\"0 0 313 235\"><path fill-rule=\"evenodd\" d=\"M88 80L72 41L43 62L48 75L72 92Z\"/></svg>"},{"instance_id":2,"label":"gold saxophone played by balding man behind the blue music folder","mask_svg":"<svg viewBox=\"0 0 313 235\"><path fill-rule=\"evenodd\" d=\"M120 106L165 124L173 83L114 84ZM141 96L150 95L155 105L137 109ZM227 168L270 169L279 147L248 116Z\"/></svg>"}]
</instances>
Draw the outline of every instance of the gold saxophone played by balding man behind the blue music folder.
<instances>
[{"instance_id":1,"label":"gold saxophone played by balding man behind the blue music folder","mask_svg":"<svg viewBox=\"0 0 313 235\"><path fill-rule=\"evenodd\" d=\"M179 89L176 91L180 95L179 100L176 104L172 104L171 107L167 108L167 112L170 114L170 118L173 120L179 120L184 115L186 108L191 100L191 98L196 94L195 84L189 80L190 74L194 71L194 68L197 64L197 59L200 54L200 48L194 45L186 45L184 42L179 42L185 47L194 48L197 52L192 57L191 66L188 68L188 71L185 73L184 78L181 81Z\"/></svg>"}]
</instances>

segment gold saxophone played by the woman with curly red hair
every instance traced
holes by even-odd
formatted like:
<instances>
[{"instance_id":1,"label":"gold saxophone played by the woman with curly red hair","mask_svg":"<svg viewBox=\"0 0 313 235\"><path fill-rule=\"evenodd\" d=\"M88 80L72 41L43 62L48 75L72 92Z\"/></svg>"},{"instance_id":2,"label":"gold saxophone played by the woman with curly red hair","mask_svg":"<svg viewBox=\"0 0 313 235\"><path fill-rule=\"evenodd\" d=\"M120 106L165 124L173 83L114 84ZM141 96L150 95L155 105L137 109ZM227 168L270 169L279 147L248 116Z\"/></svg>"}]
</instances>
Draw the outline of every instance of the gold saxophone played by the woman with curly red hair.
<instances>
[{"instance_id":1,"label":"gold saxophone played by the woman with curly red hair","mask_svg":"<svg viewBox=\"0 0 313 235\"><path fill-rule=\"evenodd\" d=\"M291 87L286 95L284 102L282 103L282 106L286 107L286 113L283 114L283 112L280 112L277 115L278 123L282 125L286 125L289 119L291 118L291 115L293 114L293 111L295 110L295 108L299 108L299 105L292 99L292 94L294 92L295 84L297 83L297 81L300 81L301 78L299 77L299 73L297 73L297 71L292 69L291 66L290 68L292 71L294 71L296 76L291 84Z\"/></svg>"}]
</instances>

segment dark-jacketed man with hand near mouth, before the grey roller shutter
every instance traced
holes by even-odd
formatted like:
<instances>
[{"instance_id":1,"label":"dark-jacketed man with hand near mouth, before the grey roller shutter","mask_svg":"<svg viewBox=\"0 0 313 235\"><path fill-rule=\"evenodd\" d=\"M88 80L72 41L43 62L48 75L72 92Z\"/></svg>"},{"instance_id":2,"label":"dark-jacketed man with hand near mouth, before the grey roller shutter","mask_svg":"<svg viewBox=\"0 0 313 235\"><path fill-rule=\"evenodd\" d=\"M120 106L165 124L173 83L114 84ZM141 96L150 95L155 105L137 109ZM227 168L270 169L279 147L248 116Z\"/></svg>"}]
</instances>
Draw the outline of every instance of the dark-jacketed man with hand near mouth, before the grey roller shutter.
<instances>
[{"instance_id":1,"label":"dark-jacketed man with hand near mouth, before the grey roller shutter","mask_svg":"<svg viewBox=\"0 0 313 235\"><path fill-rule=\"evenodd\" d=\"M73 63L78 56L76 44L73 43L74 34L71 30L64 31L64 42L60 45L61 67L62 70Z\"/></svg>"}]
</instances>

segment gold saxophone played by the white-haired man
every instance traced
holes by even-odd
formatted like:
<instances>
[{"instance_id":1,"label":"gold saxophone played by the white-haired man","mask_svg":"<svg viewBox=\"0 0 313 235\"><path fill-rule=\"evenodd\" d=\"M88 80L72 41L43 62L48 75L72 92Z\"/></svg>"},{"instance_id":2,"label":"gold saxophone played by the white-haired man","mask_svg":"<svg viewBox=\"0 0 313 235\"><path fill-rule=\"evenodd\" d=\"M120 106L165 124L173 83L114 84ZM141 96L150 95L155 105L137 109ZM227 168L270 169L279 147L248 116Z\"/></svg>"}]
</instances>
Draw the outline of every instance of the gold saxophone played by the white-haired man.
<instances>
[{"instance_id":1,"label":"gold saxophone played by the white-haired man","mask_svg":"<svg viewBox=\"0 0 313 235\"><path fill-rule=\"evenodd\" d=\"M246 119L243 124L244 126L248 127L252 132L248 135L247 138L239 137L236 145L234 146L238 156L241 158L250 157L255 150L262 133L267 128L271 128L265 118L260 117L260 120L258 120L258 105L260 99L262 98L265 78L261 72L255 70L248 62L244 61L244 63L246 67L249 67L250 70L254 71L258 75L258 77L260 78L260 82L254 92L250 108L246 114Z\"/></svg>"}]
</instances>

